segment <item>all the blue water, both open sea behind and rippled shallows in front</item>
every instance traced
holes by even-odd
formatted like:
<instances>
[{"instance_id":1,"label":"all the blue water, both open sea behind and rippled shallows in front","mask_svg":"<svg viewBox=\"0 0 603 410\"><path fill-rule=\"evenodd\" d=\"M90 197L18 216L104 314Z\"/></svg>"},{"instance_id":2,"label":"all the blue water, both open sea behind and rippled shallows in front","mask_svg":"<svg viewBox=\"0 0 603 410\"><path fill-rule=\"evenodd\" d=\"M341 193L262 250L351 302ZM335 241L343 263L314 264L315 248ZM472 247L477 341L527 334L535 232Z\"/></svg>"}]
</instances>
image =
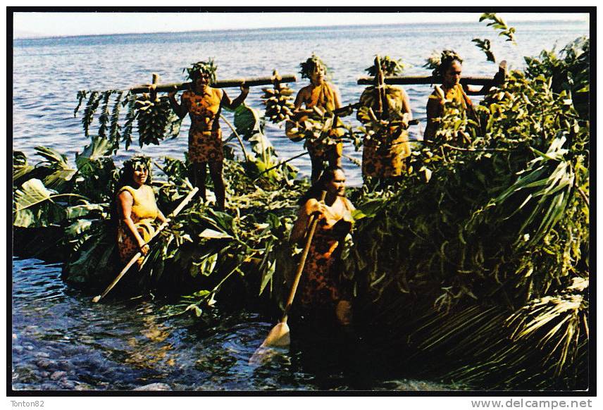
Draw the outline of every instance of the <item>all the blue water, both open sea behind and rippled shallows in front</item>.
<instances>
[{"instance_id":1,"label":"all the blue water, both open sea behind and rippled shallows in front","mask_svg":"<svg viewBox=\"0 0 603 410\"><path fill-rule=\"evenodd\" d=\"M228 18L228 15L225 15ZM401 19L403 15L401 16ZM455 49L464 57L464 75L492 75L471 39L489 38L497 60L511 68L523 66L523 56L542 49L561 49L582 35L588 23L518 23L517 45L497 38L479 23L447 25L387 25L367 27L291 28L220 32L107 35L13 42L13 149L34 154L39 145L67 154L70 160L88 139L80 118L73 117L80 89L119 89L150 82L151 73L162 82L184 80L182 68L194 61L215 58L218 77L258 77L297 74L299 62L312 52L332 69L343 104L356 102L375 54L402 58L407 75L428 75L422 68L431 51ZM298 75L298 78L300 76ZM306 80L290 84L295 91ZM406 87L415 118L411 138L421 135L430 87ZM236 97L238 89L228 89ZM247 104L263 108L261 89L251 89ZM230 114L225 113L230 119ZM135 152L154 157L182 158L187 149L189 120L177 139L160 147L120 151L118 160ZM228 128L223 125L228 135ZM284 132L268 124L266 135L281 159L303 152ZM344 154L361 158L353 147ZM293 161L302 175L309 160ZM348 180L359 184L359 169L344 159ZM337 363L317 372L304 366L304 352L292 350L261 367L247 359L271 328L254 313L216 313L199 323L182 316L165 318L163 307L152 301L92 304L89 295L70 290L60 279L60 266L35 259L13 259L13 388L18 390L130 390L149 383L167 383L175 390L346 390L355 388L344 366ZM430 380L399 380L380 375L375 390L440 390L450 387Z\"/></svg>"}]
</instances>

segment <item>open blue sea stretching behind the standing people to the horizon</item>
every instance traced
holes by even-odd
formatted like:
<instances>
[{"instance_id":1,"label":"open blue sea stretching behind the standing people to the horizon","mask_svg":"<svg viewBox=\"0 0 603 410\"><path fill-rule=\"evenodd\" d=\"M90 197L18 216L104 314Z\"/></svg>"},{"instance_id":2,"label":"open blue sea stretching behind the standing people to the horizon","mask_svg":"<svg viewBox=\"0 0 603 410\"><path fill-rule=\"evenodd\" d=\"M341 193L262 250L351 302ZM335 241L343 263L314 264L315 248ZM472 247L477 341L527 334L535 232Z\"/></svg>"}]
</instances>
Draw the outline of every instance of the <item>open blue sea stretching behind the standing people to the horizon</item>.
<instances>
[{"instance_id":1,"label":"open blue sea stretching behind the standing people to the horizon","mask_svg":"<svg viewBox=\"0 0 603 410\"><path fill-rule=\"evenodd\" d=\"M78 90L126 89L151 82L152 73L161 75L162 82L180 82L184 80L183 68L208 57L215 58L218 77L224 79L271 75L275 68L281 74L296 74L298 80L290 87L297 92L308 84L298 74L299 63L316 53L332 70L332 83L340 89L342 104L349 104L358 101L364 86L357 85L356 79L366 75L364 70L371 66L375 54L402 58L409 65L407 75L429 75L422 66L431 52L454 49L465 60L464 75L493 75L497 65L485 61L471 39L491 39L498 60L506 59L510 68L521 68L523 56L556 45L559 49L576 37L588 35L588 24L580 22L518 23L516 29L516 46L502 37L497 39L497 32L483 23L18 39L13 43L13 149L32 154L33 147L44 145L73 159L88 141L82 132L81 117L73 116ZM421 125L411 127L411 138L423 133L425 105L431 91L429 85L406 87L413 115L421 120ZM227 92L236 97L239 90ZM261 94L261 87L252 88L247 104L263 111ZM232 119L232 114L224 114ZM346 120L357 124L352 117ZM154 157L183 158L188 126L186 118L178 138L160 146L130 147L130 151L119 151L118 159L137 151ZM225 124L222 128L225 135L230 135ZM301 142L290 142L276 125L268 123L266 135L281 159L304 152ZM344 154L361 159L361 153L351 145L344 147ZM346 159L343 163L349 183L359 185L359 167ZM308 156L292 164L301 175L309 175Z\"/></svg>"}]
</instances>

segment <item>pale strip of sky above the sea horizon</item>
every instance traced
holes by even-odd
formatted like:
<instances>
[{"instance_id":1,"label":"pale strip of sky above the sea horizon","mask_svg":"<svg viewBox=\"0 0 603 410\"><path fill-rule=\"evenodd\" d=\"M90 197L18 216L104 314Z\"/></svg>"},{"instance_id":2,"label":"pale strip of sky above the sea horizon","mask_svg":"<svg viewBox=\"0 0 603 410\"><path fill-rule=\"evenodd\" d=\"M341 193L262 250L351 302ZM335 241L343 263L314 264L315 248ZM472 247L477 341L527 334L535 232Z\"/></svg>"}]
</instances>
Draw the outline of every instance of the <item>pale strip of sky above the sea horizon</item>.
<instances>
[{"instance_id":1,"label":"pale strip of sky above the sea horizon","mask_svg":"<svg viewBox=\"0 0 603 410\"><path fill-rule=\"evenodd\" d=\"M480 13L14 13L19 37L135 32L230 30L308 25L362 25L477 21ZM513 25L526 20L583 20L578 13L499 13Z\"/></svg>"}]
</instances>

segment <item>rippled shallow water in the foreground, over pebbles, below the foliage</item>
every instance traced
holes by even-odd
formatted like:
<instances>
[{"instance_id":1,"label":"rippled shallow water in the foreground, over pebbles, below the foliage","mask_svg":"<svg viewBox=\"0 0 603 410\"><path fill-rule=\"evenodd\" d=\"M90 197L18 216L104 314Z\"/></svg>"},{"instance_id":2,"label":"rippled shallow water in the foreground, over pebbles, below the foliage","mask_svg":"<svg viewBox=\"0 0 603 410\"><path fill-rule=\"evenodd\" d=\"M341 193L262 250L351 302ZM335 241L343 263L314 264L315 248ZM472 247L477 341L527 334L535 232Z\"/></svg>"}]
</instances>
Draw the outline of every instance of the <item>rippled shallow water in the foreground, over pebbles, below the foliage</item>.
<instances>
[{"instance_id":1,"label":"rippled shallow water in the foreground, over pebbles, below the foliage","mask_svg":"<svg viewBox=\"0 0 603 410\"><path fill-rule=\"evenodd\" d=\"M142 298L94 304L60 275L56 264L13 259L15 390L132 390L150 383L173 390L445 388L363 380L353 355L324 344L294 341L290 351L249 364L273 326L254 313L216 309L201 321L167 317L161 302Z\"/></svg>"}]
</instances>

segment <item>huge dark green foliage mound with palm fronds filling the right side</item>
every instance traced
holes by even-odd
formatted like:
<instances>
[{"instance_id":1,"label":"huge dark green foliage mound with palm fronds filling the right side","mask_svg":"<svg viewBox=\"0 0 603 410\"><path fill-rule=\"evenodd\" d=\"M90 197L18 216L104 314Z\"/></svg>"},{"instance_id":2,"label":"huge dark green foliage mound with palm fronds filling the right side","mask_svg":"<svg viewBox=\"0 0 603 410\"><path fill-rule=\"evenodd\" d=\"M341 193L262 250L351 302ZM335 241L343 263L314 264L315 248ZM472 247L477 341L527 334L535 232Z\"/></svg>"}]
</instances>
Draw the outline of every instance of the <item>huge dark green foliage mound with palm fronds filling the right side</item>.
<instances>
[{"instance_id":1,"label":"huge dark green foliage mound with palm fronds filling the right side","mask_svg":"<svg viewBox=\"0 0 603 410\"><path fill-rule=\"evenodd\" d=\"M588 387L590 130L542 75L576 59L539 64L477 118L447 103L409 175L358 206L347 263L400 366L481 388Z\"/></svg>"}]
</instances>

